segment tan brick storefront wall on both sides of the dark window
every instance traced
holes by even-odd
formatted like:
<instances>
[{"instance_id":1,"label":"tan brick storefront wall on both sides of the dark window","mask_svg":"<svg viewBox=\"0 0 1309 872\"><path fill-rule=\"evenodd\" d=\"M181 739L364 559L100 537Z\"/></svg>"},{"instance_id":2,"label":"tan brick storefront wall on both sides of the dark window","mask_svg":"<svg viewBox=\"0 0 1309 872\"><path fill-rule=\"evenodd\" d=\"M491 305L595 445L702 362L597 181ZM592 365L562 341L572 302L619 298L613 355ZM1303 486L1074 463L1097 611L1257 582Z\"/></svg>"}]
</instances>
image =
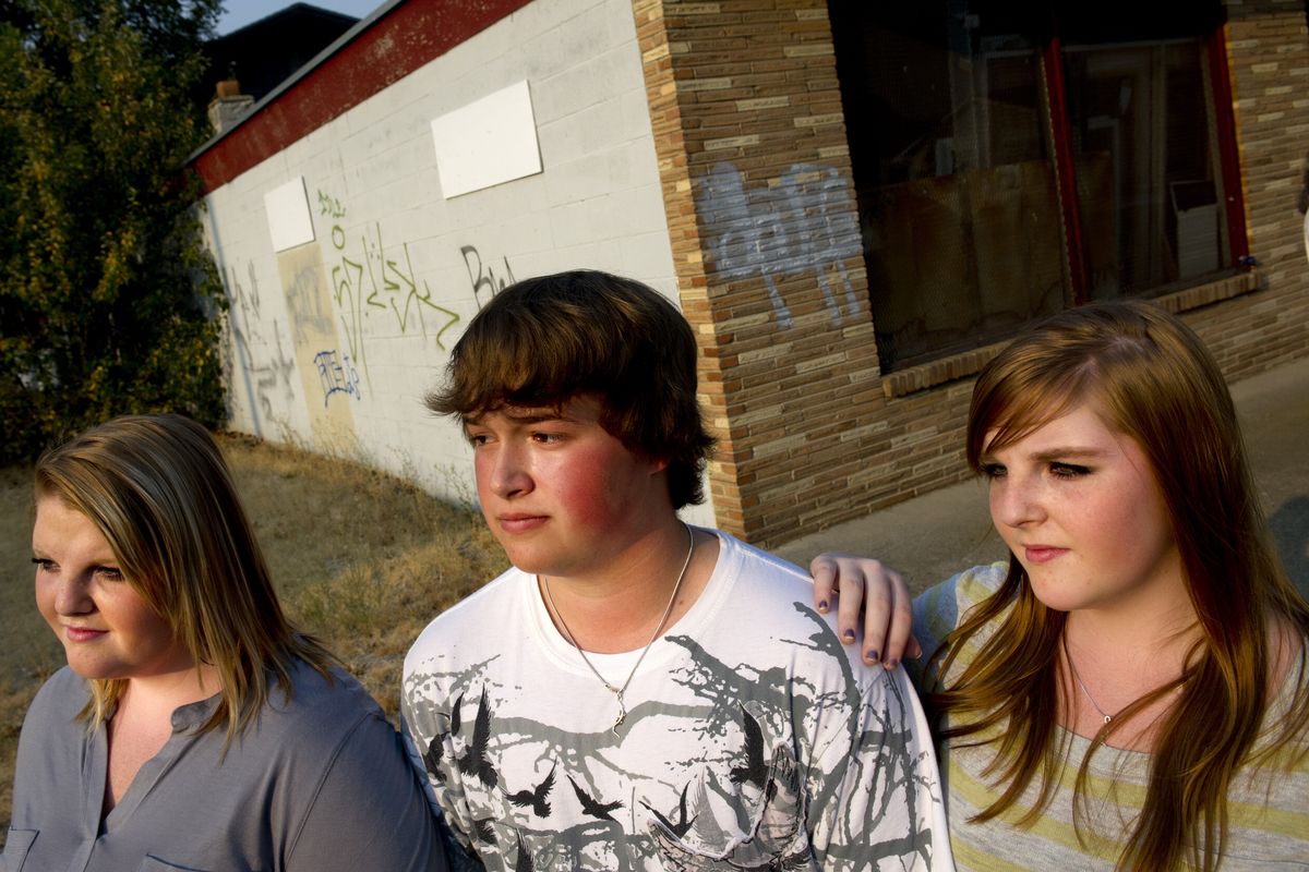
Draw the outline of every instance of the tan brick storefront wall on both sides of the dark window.
<instances>
[{"instance_id":1,"label":"tan brick storefront wall on both sides of the dark window","mask_svg":"<svg viewBox=\"0 0 1309 872\"><path fill-rule=\"evenodd\" d=\"M971 379L919 379L929 387L914 392L912 374L897 373L908 390L891 379L884 390L826 4L632 8L678 289L720 437L709 471L719 526L770 545L966 477ZM1309 353L1295 212L1309 39L1300 3L1232 3L1229 13L1261 284L1185 316L1241 378Z\"/></svg>"}]
</instances>

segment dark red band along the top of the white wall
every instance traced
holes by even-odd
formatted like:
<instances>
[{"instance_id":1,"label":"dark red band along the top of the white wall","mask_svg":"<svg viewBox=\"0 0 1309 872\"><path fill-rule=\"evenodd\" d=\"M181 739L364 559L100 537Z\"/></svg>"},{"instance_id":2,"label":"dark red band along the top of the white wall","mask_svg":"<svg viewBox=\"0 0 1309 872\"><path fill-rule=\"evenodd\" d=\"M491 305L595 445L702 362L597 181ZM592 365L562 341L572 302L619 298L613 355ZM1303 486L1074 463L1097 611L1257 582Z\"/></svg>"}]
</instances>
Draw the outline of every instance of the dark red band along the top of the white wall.
<instances>
[{"instance_id":1,"label":"dark red band along the top of the white wall","mask_svg":"<svg viewBox=\"0 0 1309 872\"><path fill-rule=\"evenodd\" d=\"M208 193L531 0L407 0L276 94L191 165Z\"/></svg>"}]
</instances>

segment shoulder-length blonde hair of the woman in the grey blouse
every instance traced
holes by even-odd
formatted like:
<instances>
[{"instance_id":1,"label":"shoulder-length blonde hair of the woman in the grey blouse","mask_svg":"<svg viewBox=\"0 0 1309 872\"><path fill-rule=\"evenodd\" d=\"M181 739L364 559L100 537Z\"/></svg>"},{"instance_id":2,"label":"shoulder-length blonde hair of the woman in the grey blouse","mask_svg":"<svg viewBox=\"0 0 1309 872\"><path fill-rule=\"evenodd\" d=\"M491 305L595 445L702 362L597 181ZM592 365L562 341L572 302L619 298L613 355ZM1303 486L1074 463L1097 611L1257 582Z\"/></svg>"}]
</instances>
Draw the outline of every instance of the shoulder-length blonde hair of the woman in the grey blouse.
<instances>
[{"instance_id":1,"label":"shoulder-length blonde hair of the woman in the grey blouse","mask_svg":"<svg viewBox=\"0 0 1309 872\"><path fill-rule=\"evenodd\" d=\"M37 461L35 495L82 512L109 541L126 583L168 621L196 664L212 664L221 702L202 732L226 744L268 702L291 694L296 659L335 663L287 621L259 543L213 437L178 414L127 416L92 428ZM126 679L92 680L81 716L103 722Z\"/></svg>"}]
</instances>

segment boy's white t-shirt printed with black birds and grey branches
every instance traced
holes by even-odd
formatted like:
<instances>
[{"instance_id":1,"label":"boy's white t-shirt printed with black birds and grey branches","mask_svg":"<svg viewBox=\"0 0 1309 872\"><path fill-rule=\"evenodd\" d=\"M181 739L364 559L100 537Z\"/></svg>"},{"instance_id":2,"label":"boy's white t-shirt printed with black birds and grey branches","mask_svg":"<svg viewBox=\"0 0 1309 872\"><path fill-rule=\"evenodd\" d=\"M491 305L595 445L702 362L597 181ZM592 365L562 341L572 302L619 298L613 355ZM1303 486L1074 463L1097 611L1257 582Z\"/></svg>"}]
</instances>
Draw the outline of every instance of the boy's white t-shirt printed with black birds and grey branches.
<instances>
[{"instance_id":1,"label":"boy's white t-shirt printed with black birds and grey branches","mask_svg":"<svg viewBox=\"0 0 1309 872\"><path fill-rule=\"evenodd\" d=\"M717 533L691 609L618 701L511 569L404 659L416 766L488 869L950 869L905 671L867 669L795 566ZM620 684L640 650L588 654ZM475 863L474 863L475 867Z\"/></svg>"}]
</instances>

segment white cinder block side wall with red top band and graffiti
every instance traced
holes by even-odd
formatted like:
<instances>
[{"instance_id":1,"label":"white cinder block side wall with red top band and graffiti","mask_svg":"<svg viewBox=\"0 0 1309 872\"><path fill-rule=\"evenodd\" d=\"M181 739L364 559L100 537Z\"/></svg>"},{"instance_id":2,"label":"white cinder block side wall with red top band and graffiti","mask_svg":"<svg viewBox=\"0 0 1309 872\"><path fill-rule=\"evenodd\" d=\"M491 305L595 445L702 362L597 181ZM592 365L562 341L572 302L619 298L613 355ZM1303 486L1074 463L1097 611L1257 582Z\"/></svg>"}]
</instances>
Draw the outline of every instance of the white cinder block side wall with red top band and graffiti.
<instances>
[{"instance_id":1,"label":"white cinder block side wall with red top band and graffiti","mask_svg":"<svg viewBox=\"0 0 1309 872\"><path fill-rule=\"evenodd\" d=\"M504 14L484 25L487 7ZM456 41L467 16L479 24ZM432 21L452 44L411 64L440 30ZM326 123L287 131L287 145L208 192L230 302L229 426L462 499L475 494L473 454L421 397L487 301L516 278L581 267L675 297L631 7L411 0L357 41L370 46L363 59L343 50L207 153L221 167L242 143L281 132L263 118L292 126L322 94L412 65ZM521 81L542 171L446 196L432 120ZM302 186L312 239L279 251L266 195L288 182ZM687 516L711 523L712 510Z\"/></svg>"}]
</instances>

